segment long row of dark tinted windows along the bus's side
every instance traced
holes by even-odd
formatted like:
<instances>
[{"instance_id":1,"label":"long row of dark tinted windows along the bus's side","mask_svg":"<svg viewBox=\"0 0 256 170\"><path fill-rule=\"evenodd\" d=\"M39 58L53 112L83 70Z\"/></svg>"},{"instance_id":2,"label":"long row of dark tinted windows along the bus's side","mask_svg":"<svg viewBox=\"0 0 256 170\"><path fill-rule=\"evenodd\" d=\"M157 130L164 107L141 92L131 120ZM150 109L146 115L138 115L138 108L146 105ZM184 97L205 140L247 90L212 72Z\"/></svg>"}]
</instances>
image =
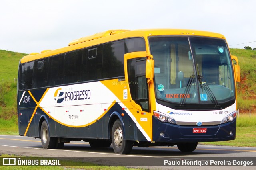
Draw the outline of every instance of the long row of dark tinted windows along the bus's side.
<instances>
[{"instance_id":1,"label":"long row of dark tinted windows along the bus's side","mask_svg":"<svg viewBox=\"0 0 256 170\"><path fill-rule=\"evenodd\" d=\"M124 76L124 54L134 51L146 51L143 38L114 41L21 64L19 88L26 90Z\"/></svg>"}]
</instances>

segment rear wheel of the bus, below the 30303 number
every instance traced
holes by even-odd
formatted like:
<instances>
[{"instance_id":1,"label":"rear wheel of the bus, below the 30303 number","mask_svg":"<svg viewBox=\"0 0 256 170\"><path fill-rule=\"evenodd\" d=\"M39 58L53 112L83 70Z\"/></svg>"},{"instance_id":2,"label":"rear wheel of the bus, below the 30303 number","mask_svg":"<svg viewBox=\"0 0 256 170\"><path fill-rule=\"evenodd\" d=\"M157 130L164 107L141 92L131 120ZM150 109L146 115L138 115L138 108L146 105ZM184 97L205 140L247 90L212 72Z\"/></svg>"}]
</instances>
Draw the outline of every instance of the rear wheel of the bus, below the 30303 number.
<instances>
[{"instance_id":1,"label":"rear wheel of the bus, below the 30303 number","mask_svg":"<svg viewBox=\"0 0 256 170\"><path fill-rule=\"evenodd\" d=\"M56 139L50 137L49 127L46 121L43 121L41 126L41 143L44 149L54 149L56 147Z\"/></svg>"}]
</instances>

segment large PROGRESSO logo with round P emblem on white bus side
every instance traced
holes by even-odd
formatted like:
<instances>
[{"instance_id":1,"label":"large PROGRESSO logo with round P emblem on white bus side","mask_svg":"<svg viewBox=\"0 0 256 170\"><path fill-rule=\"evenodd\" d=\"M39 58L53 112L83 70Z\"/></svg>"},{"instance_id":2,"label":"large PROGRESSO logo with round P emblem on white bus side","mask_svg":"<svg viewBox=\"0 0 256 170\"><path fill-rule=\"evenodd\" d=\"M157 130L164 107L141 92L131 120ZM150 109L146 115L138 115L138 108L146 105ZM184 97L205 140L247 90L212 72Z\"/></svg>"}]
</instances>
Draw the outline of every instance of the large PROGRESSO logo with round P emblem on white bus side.
<instances>
[{"instance_id":1,"label":"large PROGRESSO logo with round P emblem on white bus side","mask_svg":"<svg viewBox=\"0 0 256 170\"><path fill-rule=\"evenodd\" d=\"M80 90L80 91L68 91L63 92L62 88L58 88L54 92L54 100L57 103L62 103L63 101L73 101L73 100L86 100L91 98L91 90Z\"/></svg>"}]
</instances>

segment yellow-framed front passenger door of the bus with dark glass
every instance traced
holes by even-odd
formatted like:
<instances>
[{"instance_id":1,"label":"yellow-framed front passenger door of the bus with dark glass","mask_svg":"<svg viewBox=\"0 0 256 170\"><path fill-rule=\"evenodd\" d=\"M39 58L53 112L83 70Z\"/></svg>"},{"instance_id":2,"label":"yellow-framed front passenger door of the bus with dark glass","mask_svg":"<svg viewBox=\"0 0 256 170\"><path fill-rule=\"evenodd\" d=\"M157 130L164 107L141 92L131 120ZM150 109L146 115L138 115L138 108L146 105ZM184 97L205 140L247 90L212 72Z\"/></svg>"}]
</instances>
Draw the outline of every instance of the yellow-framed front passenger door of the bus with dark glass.
<instances>
[{"instance_id":1,"label":"yellow-framed front passenger door of the bus with dark glass","mask_svg":"<svg viewBox=\"0 0 256 170\"><path fill-rule=\"evenodd\" d=\"M132 114L136 118L137 129L142 128L147 136L152 139L149 84L146 78L146 53L133 52L127 53L124 56L125 75L129 82L131 105L134 108L132 109ZM137 133L137 137L138 141L143 141L139 133Z\"/></svg>"}]
</instances>

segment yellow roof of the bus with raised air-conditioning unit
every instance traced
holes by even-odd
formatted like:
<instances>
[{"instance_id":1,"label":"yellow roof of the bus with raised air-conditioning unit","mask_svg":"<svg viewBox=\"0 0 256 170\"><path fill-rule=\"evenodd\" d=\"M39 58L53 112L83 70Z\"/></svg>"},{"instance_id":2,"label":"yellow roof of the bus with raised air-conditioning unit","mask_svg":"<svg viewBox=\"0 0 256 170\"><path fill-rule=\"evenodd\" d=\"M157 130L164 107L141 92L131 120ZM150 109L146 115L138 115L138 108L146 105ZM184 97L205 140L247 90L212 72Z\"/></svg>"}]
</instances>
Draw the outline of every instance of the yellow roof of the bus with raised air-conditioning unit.
<instances>
[{"instance_id":1,"label":"yellow roof of the bus with raised air-conditioning unit","mask_svg":"<svg viewBox=\"0 0 256 170\"><path fill-rule=\"evenodd\" d=\"M101 33L96 33L80 39L71 41L67 47L63 47L55 50L44 50L41 53L30 53L30 55L24 56L20 62L26 63L36 59L73 51L80 48L90 47L97 44L103 44L118 39L125 39L129 37L150 37L157 35L182 35L182 36L204 36L204 37L216 37L225 39L224 35L218 33L212 33L208 31L196 31L188 29L140 29L140 30L108 30Z\"/></svg>"}]
</instances>

